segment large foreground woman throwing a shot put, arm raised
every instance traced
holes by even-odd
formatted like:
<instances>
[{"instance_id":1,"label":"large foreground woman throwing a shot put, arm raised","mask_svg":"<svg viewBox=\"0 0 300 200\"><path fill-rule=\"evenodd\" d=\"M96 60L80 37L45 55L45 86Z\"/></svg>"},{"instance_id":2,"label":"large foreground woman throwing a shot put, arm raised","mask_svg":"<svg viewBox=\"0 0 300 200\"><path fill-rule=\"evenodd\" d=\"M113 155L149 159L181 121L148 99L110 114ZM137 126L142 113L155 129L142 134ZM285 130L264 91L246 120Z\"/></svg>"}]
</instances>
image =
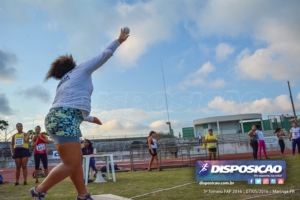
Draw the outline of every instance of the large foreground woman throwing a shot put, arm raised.
<instances>
[{"instance_id":1,"label":"large foreground woman throwing a shot put, arm raised","mask_svg":"<svg viewBox=\"0 0 300 200\"><path fill-rule=\"evenodd\" d=\"M82 121L102 124L98 118L89 116L93 92L91 75L113 55L128 36L125 29L121 29L117 40L110 43L99 55L77 67L72 55L61 55L52 62L45 81L53 78L60 82L54 102L45 118L45 128L53 139L62 163L53 168L40 185L30 189L32 199L44 200L46 192L68 176L77 190L77 200L92 199L83 181L80 144L82 134L79 125ZM61 197L63 196L62 194Z\"/></svg>"}]
</instances>

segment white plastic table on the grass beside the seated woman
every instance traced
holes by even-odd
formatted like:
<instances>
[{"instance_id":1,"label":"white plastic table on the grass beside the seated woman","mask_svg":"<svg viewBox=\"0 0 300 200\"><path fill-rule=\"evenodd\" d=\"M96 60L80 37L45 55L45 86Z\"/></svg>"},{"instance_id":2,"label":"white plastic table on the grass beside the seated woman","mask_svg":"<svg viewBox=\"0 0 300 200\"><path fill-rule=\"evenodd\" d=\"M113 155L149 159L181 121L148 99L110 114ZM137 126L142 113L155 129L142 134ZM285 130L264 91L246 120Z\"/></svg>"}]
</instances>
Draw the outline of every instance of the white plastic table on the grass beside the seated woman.
<instances>
[{"instance_id":1,"label":"white plastic table on the grass beside the seated woman","mask_svg":"<svg viewBox=\"0 0 300 200\"><path fill-rule=\"evenodd\" d=\"M114 168L114 164L113 164L113 154L85 155L85 156L83 156L83 162L82 162L83 176L85 177L85 185L88 184L88 169L89 169L91 157L104 157L105 158L108 180L110 180L110 167L109 167L109 162L108 162L108 158L110 158L110 165L112 166L112 173L113 173L113 182L116 182L115 168ZM98 174L98 175L101 175L101 171L99 171L99 173L100 174ZM92 177L91 177L91 179L92 179Z\"/></svg>"}]
</instances>

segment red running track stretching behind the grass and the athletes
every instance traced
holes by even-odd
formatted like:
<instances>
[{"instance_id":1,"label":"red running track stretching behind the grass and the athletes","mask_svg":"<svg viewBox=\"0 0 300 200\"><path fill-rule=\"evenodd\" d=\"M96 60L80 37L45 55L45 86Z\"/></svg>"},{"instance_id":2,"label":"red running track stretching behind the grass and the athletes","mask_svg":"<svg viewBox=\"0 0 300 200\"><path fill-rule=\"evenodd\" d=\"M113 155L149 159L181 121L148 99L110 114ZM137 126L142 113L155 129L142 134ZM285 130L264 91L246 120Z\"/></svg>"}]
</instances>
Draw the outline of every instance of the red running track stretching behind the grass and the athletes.
<instances>
[{"instance_id":1,"label":"red running track stretching behind the grass and the athletes","mask_svg":"<svg viewBox=\"0 0 300 200\"><path fill-rule=\"evenodd\" d=\"M296 151L297 153L297 151ZM281 153L280 151L268 151L267 155L268 157L272 156L279 156ZM292 154L292 150L285 150L284 154L290 155ZM244 153L244 154L229 154L229 155L220 155L220 160L241 160L241 159L250 159L253 158L252 153ZM262 160L264 160L264 154L262 153ZM150 157L149 157L150 160ZM139 160L139 161L134 161L134 169L148 169L149 165L149 160ZM182 165L182 158L174 158L174 159L162 159L161 161L176 161L178 162L168 162L168 163L162 163L162 168L172 168L172 167L180 167ZM188 158L184 158L184 165L189 165L190 161ZM194 157L193 160L191 160L191 164L195 165L195 160L206 160L206 157ZM136 163L143 163L143 164L136 164ZM130 161L123 161L123 162L118 162L115 161L114 164L117 164L118 167L122 167L123 169L128 169L130 168ZM99 169L100 166L105 165L105 163L96 163L97 168ZM55 166L48 166L49 172L51 169L53 169ZM43 169L43 167L41 167ZM155 163L152 164L152 168L155 168ZM3 172L1 172L3 170ZM3 177L4 182L15 182L15 170L16 168L0 168L0 175ZM35 167L27 167L28 170L28 175L27 175L27 183L28 184L33 184L35 182L35 178L32 178L32 174L35 170ZM21 175L19 182L22 183L23 181L23 175L22 175L22 169L21 169Z\"/></svg>"}]
</instances>

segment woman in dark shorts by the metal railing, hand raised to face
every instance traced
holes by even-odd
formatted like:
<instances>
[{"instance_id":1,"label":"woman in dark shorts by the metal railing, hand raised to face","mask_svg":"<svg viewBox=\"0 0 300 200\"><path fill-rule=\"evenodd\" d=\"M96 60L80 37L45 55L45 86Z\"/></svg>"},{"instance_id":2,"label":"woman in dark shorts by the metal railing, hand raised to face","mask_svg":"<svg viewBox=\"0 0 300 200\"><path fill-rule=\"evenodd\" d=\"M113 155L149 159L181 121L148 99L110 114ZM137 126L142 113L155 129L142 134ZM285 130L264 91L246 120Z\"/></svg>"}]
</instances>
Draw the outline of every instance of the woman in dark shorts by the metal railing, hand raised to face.
<instances>
[{"instance_id":1,"label":"woman in dark shorts by the metal railing, hand raised to face","mask_svg":"<svg viewBox=\"0 0 300 200\"><path fill-rule=\"evenodd\" d=\"M156 136L156 138L155 138L155 136ZM156 153L156 148L157 148L156 141L157 140L160 140L158 134L154 131L151 131L149 133L149 136L148 136L148 139L147 139L147 142L148 142L148 145L149 145L149 153L151 155L150 162L149 162L149 167L148 167L148 170L147 170L148 172L152 172L151 166L152 166L152 163L153 163L154 159L155 159L155 164L156 164L156 167L157 167L157 171L159 171L159 172L163 171L163 169L159 168L159 164L158 164L158 156L157 156L157 153Z\"/></svg>"}]
</instances>

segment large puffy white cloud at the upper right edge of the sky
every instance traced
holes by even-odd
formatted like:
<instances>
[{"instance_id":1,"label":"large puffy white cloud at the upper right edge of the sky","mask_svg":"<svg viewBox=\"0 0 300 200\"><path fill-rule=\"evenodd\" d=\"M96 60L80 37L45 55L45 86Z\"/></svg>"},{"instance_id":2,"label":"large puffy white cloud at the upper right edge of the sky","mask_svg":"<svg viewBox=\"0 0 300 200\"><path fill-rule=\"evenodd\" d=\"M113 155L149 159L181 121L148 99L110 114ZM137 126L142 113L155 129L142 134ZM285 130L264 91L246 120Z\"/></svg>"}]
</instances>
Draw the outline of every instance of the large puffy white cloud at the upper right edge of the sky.
<instances>
[{"instance_id":1,"label":"large puffy white cloud at the upper right edge of the sky","mask_svg":"<svg viewBox=\"0 0 300 200\"><path fill-rule=\"evenodd\" d=\"M299 70L300 64L300 30L298 22L295 22L295 19L299 20L299 15L293 15L292 10L291 13L286 13L287 16L259 19L257 25L253 26L254 37L267 44L254 53L249 49L240 53L234 67L238 77L260 80L269 76L273 79L298 79L292 73Z\"/></svg>"}]
</instances>

